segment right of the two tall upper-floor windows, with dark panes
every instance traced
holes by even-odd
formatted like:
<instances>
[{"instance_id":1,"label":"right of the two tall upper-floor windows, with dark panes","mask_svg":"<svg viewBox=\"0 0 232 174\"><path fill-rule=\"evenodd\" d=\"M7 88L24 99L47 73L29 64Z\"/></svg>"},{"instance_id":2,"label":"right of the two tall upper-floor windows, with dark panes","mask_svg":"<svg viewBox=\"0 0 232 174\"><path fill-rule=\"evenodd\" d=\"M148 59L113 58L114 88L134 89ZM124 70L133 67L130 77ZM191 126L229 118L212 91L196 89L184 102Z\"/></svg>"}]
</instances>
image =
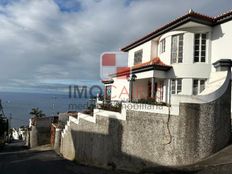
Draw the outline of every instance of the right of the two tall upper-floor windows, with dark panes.
<instances>
[{"instance_id":1,"label":"right of the two tall upper-floor windows, with dark panes","mask_svg":"<svg viewBox=\"0 0 232 174\"><path fill-rule=\"evenodd\" d=\"M205 62L206 59L206 33L197 33L194 38L194 62Z\"/></svg>"}]
</instances>

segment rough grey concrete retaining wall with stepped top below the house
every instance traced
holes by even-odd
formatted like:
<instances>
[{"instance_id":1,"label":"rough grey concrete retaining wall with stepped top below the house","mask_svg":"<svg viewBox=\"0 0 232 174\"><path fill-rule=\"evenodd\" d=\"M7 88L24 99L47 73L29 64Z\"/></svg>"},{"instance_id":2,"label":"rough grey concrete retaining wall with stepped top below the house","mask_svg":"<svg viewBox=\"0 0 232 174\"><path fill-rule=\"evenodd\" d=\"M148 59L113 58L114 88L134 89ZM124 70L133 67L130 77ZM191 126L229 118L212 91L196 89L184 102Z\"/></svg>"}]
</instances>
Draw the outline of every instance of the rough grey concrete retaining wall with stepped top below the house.
<instances>
[{"instance_id":1,"label":"rough grey concrete retaining wall with stepped top below the house","mask_svg":"<svg viewBox=\"0 0 232 174\"><path fill-rule=\"evenodd\" d=\"M180 104L178 116L127 111L126 120L96 116L70 122L62 154L80 163L139 171L195 163L228 145L231 87L206 104ZM112 116L112 115L111 115Z\"/></svg>"}]
</instances>

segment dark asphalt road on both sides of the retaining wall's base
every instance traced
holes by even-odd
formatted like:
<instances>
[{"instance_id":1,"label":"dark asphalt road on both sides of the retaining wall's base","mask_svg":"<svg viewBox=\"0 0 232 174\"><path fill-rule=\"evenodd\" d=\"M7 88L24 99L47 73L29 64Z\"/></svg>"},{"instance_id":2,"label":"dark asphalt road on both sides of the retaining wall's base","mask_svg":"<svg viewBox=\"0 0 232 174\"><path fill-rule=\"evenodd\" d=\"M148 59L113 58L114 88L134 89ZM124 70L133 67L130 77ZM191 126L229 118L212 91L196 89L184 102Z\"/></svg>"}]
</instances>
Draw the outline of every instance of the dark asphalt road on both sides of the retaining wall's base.
<instances>
[{"instance_id":1,"label":"dark asphalt road on both sides of the retaining wall's base","mask_svg":"<svg viewBox=\"0 0 232 174\"><path fill-rule=\"evenodd\" d=\"M22 142L6 145L0 151L0 174L129 174L83 166L65 160L49 147L29 150ZM232 146L210 159L191 167L171 169L157 167L143 174L232 174ZM130 173L131 174L131 173Z\"/></svg>"}]
</instances>

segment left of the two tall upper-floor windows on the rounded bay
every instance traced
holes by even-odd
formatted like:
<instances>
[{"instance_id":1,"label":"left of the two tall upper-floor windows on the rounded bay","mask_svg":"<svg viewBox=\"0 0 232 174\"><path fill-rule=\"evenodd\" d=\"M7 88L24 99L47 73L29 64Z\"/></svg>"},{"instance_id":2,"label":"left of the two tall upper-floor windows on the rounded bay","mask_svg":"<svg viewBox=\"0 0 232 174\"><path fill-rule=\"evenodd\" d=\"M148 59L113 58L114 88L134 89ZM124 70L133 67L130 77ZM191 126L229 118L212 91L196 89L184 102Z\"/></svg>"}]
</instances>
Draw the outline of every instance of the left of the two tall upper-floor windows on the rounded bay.
<instances>
[{"instance_id":1,"label":"left of the two tall upper-floor windows on the rounded bay","mask_svg":"<svg viewBox=\"0 0 232 174\"><path fill-rule=\"evenodd\" d=\"M184 34L172 36L171 63L183 62Z\"/></svg>"}]
</instances>

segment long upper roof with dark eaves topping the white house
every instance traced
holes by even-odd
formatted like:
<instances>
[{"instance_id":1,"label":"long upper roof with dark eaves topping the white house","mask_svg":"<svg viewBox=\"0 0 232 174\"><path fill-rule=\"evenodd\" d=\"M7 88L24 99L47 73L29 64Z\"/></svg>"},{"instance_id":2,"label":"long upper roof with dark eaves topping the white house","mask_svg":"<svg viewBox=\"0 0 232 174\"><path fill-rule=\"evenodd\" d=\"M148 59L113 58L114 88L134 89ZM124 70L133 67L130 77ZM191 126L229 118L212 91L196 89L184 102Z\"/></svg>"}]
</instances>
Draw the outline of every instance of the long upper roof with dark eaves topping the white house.
<instances>
[{"instance_id":1,"label":"long upper roof with dark eaves topping the white house","mask_svg":"<svg viewBox=\"0 0 232 174\"><path fill-rule=\"evenodd\" d=\"M181 26L189 21L209 25L209 26L214 26L223 22L226 22L228 20L232 19L232 10L228 11L226 13L223 13L222 15L219 15L217 17L210 17L207 15L203 15L197 12L194 12L190 10L187 14L173 20L172 22L158 28L157 30L149 33L148 35L142 37L141 39L136 40L135 42L125 46L122 48L122 51L129 51L132 48L135 48L136 46L139 46L157 36L160 36L168 31L171 31L172 29Z\"/></svg>"}]
</instances>

